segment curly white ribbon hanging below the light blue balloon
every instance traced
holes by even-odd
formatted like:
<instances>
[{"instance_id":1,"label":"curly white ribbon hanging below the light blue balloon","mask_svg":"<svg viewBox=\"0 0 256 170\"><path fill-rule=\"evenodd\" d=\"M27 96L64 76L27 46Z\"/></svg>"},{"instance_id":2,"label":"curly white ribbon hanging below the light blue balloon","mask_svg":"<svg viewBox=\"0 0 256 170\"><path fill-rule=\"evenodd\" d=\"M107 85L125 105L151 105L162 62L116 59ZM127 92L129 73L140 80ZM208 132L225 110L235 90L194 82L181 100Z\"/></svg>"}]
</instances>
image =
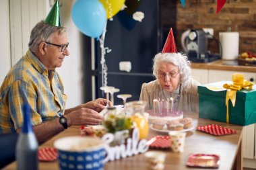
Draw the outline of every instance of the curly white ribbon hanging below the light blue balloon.
<instances>
[{"instance_id":1,"label":"curly white ribbon hanging below the light blue balloon","mask_svg":"<svg viewBox=\"0 0 256 170\"><path fill-rule=\"evenodd\" d=\"M102 36L99 38L99 40L100 40L100 48L101 48L100 64L101 64L101 67L102 67L102 86L107 86L108 85L108 79L107 79L108 67L106 67L105 54L106 54L106 52L107 53L111 52L110 48L104 47L105 34L106 34L106 26L105 26L105 28L104 28L104 30L102 32Z\"/></svg>"}]
</instances>

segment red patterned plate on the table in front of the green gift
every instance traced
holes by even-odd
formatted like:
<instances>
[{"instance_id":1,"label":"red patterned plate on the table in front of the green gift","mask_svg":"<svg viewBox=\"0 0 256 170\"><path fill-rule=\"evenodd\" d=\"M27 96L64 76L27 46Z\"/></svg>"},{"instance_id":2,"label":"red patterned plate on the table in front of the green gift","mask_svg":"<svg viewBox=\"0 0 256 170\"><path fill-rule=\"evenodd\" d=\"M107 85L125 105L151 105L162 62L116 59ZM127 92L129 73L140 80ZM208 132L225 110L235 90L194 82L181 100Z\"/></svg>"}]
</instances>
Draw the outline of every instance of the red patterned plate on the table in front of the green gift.
<instances>
[{"instance_id":1,"label":"red patterned plate on the table in front of the green gift","mask_svg":"<svg viewBox=\"0 0 256 170\"><path fill-rule=\"evenodd\" d=\"M212 134L215 136L236 133L236 130L232 130L230 128L225 128L223 126L219 126L218 124L210 124L207 126L197 126L197 130L208 133L208 134Z\"/></svg>"}]
</instances>

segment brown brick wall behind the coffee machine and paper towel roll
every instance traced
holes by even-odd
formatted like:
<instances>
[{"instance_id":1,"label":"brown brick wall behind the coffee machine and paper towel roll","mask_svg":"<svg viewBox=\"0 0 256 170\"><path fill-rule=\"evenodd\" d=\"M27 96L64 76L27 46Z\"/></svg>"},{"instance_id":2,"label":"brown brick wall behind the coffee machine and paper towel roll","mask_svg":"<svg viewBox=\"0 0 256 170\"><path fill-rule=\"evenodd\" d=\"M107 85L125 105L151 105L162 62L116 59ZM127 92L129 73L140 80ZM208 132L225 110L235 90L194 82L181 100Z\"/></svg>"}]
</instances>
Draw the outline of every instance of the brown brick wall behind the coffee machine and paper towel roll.
<instances>
[{"instance_id":1,"label":"brown brick wall behind the coffee machine and paper towel roll","mask_svg":"<svg viewBox=\"0 0 256 170\"><path fill-rule=\"evenodd\" d=\"M162 29L168 30L170 26L173 27L173 17L176 19L174 34L179 50L182 50L181 34L187 29L214 28L214 37L218 39L219 32L226 32L230 27L232 31L239 32L239 52L256 53L256 0L227 0L218 14L216 14L216 0L185 1L185 8L179 0L160 0L160 2ZM172 13L174 8L177 10L175 15ZM211 50L217 50L215 44L211 43L211 47Z\"/></svg>"}]
</instances>

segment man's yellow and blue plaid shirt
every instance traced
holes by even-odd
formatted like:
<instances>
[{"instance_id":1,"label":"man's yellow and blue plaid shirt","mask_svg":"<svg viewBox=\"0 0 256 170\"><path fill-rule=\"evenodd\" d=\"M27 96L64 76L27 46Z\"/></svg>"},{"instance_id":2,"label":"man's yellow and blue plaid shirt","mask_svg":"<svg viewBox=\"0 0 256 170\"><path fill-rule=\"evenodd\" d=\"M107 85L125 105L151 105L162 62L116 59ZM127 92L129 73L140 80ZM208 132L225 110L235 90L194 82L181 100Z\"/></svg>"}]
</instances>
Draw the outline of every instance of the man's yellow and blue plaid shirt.
<instances>
[{"instance_id":1,"label":"man's yellow and blue plaid shirt","mask_svg":"<svg viewBox=\"0 0 256 170\"><path fill-rule=\"evenodd\" d=\"M0 134L22 128L22 105L28 103L32 124L64 114L67 96L56 71L47 71L30 50L14 65L0 89Z\"/></svg>"}]
</instances>

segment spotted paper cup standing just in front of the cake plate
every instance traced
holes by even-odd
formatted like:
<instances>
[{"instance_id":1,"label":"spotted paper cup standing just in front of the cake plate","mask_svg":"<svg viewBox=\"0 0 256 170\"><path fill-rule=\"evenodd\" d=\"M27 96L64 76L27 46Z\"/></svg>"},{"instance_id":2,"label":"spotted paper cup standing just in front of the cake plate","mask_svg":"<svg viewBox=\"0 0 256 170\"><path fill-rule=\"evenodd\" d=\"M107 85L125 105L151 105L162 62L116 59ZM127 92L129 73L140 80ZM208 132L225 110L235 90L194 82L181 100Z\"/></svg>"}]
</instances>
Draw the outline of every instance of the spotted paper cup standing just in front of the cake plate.
<instances>
[{"instance_id":1,"label":"spotted paper cup standing just in front of the cake plate","mask_svg":"<svg viewBox=\"0 0 256 170\"><path fill-rule=\"evenodd\" d=\"M183 153L185 146L186 132L169 132L170 148L174 153Z\"/></svg>"}]
</instances>

